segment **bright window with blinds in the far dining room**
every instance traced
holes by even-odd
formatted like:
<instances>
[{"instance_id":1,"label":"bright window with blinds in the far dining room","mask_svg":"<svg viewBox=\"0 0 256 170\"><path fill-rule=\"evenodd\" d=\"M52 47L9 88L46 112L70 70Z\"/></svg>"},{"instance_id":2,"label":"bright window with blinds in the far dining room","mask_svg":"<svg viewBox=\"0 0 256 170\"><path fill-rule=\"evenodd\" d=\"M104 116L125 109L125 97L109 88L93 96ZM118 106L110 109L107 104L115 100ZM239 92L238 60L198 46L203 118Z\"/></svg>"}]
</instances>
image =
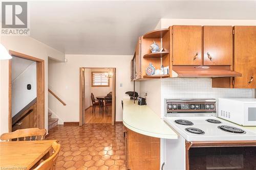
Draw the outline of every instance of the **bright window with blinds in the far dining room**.
<instances>
[{"instance_id":1,"label":"bright window with blinds in the far dining room","mask_svg":"<svg viewBox=\"0 0 256 170\"><path fill-rule=\"evenodd\" d=\"M109 79L106 78L105 72L92 72L92 87L94 86L110 86Z\"/></svg>"}]
</instances>

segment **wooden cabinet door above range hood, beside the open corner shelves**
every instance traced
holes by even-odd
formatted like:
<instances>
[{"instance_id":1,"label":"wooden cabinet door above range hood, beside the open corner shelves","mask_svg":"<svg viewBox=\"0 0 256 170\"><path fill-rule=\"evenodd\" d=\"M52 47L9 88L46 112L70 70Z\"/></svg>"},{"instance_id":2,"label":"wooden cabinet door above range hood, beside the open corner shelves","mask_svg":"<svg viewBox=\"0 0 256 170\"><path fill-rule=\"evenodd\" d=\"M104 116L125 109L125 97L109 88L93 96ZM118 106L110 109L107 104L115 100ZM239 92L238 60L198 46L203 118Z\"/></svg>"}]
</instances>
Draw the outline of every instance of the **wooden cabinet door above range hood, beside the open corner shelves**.
<instances>
[{"instance_id":1,"label":"wooden cabinet door above range hood, beside the open corner shelves","mask_svg":"<svg viewBox=\"0 0 256 170\"><path fill-rule=\"evenodd\" d=\"M202 27L173 26L173 65L202 64Z\"/></svg>"}]
</instances>

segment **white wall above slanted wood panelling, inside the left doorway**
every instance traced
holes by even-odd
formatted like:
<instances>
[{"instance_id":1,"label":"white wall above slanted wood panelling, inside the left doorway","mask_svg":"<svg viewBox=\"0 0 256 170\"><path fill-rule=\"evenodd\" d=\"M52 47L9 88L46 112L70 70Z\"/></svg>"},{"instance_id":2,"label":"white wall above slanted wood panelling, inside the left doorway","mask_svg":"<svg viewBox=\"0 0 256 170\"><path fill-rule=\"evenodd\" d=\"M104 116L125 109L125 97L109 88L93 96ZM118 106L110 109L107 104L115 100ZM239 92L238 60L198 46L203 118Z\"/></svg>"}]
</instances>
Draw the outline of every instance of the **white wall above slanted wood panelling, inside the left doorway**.
<instances>
[{"instance_id":1,"label":"white wall above slanted wood panelling, inside the left doorway","mask_svg":"<svg viewBox=\"0 0 256 170\"><path fill-rule=\"evenodd\" d=\"M27 89L27 84L31 84L30 90ZM35 98L36 62L33 62L12 82L12 117Z\"/></svg>"}]
</instances>

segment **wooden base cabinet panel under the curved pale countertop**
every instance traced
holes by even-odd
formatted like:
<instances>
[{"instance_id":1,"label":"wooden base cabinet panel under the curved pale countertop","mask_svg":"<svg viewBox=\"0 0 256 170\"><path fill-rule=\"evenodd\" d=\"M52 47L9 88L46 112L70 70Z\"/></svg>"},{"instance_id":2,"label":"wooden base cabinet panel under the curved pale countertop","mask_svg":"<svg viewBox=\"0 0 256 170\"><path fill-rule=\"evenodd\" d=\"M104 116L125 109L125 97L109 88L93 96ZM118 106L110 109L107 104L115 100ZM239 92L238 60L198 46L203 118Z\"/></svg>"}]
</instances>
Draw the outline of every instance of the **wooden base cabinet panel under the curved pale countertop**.
<instances>
[{"instance_id":1,"label":"wooden base cabinet panel under the curved pale countertop","mask_svg":"<svg viewBox=\"0 0 256 170\"><path fill-rule=\"evenodd\" d=\"M126 129L126 167L131 170L160 169L160 138Z\"/></svg>"}]
</instances>

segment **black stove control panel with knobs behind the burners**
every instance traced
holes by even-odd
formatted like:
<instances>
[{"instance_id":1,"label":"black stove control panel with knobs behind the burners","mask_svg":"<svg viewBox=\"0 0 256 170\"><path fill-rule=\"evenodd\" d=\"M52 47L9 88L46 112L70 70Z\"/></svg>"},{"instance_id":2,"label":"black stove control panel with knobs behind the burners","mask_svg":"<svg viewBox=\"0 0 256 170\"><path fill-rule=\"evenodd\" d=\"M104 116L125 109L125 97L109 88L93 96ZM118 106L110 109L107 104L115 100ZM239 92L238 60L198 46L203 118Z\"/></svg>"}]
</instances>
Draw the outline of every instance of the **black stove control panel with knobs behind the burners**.
<instances>
[{"instance_id":1,"label":"black stove control panel with knobs behind the burners","mask_svg":"<svg viewBox=\"0 0 256 170\"><path fill-rule=\"evenodd\" d=\"M216 113L216 101L208 100L172 100L166 99L167 113Z\"/></svg>"}]
</instances>

